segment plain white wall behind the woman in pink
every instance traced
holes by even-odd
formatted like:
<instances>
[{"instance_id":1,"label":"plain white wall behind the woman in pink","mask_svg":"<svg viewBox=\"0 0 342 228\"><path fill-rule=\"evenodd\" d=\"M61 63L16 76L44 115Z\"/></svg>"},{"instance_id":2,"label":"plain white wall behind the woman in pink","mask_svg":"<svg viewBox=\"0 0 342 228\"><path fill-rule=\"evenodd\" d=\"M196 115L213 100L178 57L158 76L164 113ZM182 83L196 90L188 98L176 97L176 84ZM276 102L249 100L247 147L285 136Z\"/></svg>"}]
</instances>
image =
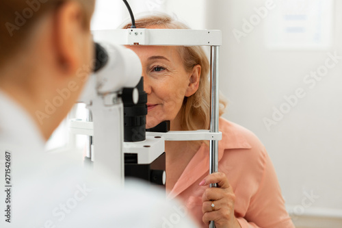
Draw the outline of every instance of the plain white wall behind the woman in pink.
<instances>
[{"instance_id":1,"label":"plain white wall behind the woman in pink","mask_svg":"<svg viewBox=\"0 0 342 228\"><path fill-rule=\"evenodd\" d=\"M334 1L332 45L324 51L267 49L267 17L238 43L233 29L241 30L243 19L263 5L265 0L207 1L207 27L221 29L224 37L220 88L229 99L225 117L251 129L265 144L295 223L302 225L300 215L306 214L325 215L332 224L329 217L342 218L342 60L312 89L303 79L325 63L328 52L342 56L342 1ZM279 108L297 88L306 96L268 131L263 118L272 118L272 107ZM306 205L304 192L317 199ZM341 220L334 224L341 227Z\"/></svg>"}]
</instances>

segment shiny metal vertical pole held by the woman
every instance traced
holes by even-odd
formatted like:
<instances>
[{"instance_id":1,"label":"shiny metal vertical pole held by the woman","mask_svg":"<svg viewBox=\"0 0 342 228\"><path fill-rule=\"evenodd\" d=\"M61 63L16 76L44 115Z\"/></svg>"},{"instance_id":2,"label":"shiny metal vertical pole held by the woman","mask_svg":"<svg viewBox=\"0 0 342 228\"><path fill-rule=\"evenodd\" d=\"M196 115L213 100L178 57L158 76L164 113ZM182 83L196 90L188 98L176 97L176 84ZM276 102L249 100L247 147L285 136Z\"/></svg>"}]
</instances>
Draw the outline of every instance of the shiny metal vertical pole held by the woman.
<instances>
[{"instance_id":1,"label":"shiny metal vertical pole held by the woman","mask_svg":"<svg viewBox=\"0 0 342 228\"><path fill-rule=\"evenodd\" d=\"M220 47L211 46L210 52L210 87L211 87L211 115L210 115L210 132L218 131L218 121L219 121L219 96L218 96L218 61L219 61ZM210 168L209 172L218 172L218 140L210 140ZM216 184L212 184L211 188L216 187ZM210 222L210 228L215 228L215 223Z\"/></svg>"}]
</instances>

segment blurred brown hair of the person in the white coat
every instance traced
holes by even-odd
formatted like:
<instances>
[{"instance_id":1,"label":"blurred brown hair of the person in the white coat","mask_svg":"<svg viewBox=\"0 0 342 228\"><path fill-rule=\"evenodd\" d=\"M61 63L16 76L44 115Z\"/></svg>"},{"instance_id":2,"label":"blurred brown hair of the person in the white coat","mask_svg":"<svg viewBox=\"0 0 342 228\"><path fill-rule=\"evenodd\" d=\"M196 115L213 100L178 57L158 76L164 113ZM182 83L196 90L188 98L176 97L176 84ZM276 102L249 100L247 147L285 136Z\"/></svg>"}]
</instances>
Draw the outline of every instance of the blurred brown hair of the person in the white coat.
<instances>
[{"instance_id":1,"label":"blurred brown hair of the person in the white coat","mask_svg":"<svg viewBox=\"0 0 342 228\"><path fill-rule=\"evenodd\" d=\"M0 66L23 49L40 18L63 3L76 1L83 10L83 25L90 29L95 0L2 0L0 2Z\"/></svg>"}]
</instances>

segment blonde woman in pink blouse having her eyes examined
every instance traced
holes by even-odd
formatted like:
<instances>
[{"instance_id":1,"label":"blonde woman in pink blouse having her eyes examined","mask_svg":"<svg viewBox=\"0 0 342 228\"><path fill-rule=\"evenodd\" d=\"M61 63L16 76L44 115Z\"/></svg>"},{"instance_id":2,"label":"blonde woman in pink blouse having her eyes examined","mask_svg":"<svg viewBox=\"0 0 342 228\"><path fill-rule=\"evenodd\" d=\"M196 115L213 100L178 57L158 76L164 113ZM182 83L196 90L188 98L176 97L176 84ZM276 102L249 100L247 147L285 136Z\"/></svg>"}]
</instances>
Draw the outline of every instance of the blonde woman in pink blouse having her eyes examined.
<instances>
[{"instance_id":1,"label":"blonde woman in pink blouse having her eyes examined","mask_svg":"<svg viewBox=\"0 0 342 228\"><path fill-rule=\"evenodd\" d=\"M138 28L189 29L170 16L144 16ZM125 25L129 28L131 25ZM201 47L131 46L143 66L148 94L146 128L209 129L209 62ZM226 104L220 101L220 115ZM209 173L207 142L166 142L166 188L198 224L208 227L294 227L272 162L257 136L220 118L219 173ZM218 188L209 188L218 183Z\"/></svg>"}]
</instances>

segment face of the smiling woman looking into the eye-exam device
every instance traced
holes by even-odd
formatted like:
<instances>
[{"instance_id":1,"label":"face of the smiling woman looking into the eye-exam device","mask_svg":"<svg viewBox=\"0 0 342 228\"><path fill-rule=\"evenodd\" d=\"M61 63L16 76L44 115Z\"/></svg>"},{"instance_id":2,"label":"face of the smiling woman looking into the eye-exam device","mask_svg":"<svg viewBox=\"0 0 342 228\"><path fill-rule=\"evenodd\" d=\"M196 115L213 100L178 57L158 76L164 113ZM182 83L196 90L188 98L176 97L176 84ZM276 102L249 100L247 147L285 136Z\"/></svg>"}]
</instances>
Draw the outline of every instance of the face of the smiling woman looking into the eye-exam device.
<instances>
[{"instance_id":1,"label":"face of the smiling woman looking into the eye-exam device","mask_svg":"<svg viewBox=\"0 0 342 228\"><path fill-rule=\"evenodd\" d=\"M185 71L179 47L128 48L135 51L142 62L144 90L148 94L146 128L155 127L162 121L174 121L181 110L184 97L191 96L198 88L193 83L192 75L194 71L200 73L200 66L194 67L192 72Z\"/></svg>"}]
</instances>

